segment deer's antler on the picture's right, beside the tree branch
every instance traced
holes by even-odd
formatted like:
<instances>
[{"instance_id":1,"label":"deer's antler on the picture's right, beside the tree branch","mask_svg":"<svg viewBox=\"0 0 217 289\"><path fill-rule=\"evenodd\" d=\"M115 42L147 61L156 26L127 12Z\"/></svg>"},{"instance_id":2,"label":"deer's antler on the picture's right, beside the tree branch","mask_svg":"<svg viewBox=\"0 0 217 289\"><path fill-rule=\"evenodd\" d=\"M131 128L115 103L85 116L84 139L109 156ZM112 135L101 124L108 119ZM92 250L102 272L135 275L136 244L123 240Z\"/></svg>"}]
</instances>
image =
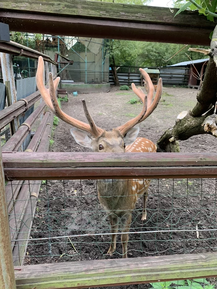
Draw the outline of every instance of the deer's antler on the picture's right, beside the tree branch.
<instances>
[{"instance_id":1,"label":"deer's antler on the picture's right, beside the tree branch","mask_svg":"<svg viewBox=\"0 0 217 289\"><path fill-rule=\"evenodd\" d=\"M142 112L140 112L138 116L136 116L132 120L127 121L124 125L117 127L117 130L119 130L119 132L122 135L125 135L128 132L128 130L131 129L133 126L145 120L155 110L155 108L157 107L157 104L159 103L161 99L162 78L159 78L159 81L157 84L157 91L154 97L154 86L148 73L142 68L139 68L139 71L142 73L147 83L148 94L145 95L140 87L137 89L135 84L132 83L132 90L143 102L143 109L142 109Z\"/></svg>"}]
</instances>

